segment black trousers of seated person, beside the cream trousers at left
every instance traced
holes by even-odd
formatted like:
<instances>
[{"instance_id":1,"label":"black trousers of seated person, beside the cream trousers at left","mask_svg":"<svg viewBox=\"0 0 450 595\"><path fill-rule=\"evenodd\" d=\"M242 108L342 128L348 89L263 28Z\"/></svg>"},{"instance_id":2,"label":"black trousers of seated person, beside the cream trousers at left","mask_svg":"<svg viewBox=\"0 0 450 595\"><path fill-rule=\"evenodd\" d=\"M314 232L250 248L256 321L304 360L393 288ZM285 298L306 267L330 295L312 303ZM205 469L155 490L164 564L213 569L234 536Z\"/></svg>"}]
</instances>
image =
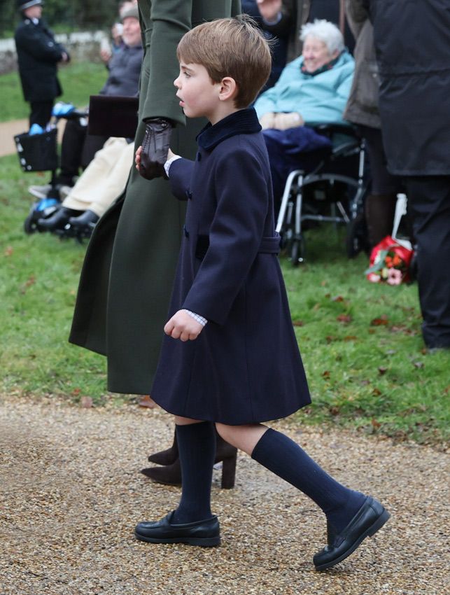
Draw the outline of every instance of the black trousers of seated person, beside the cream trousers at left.
<instances>
[{"instance_id":1,"label":"black trousers of seated person, beside the cream trousers at left","mask_svg":"<svg viewBox=\"0 0 450 595\"><path fill-rule=\"evenodd\" d=\"M85 169L95 153L105 144L108 137L94 137L87 134L87 126L79 119L68 120L61 145L61 167L57 183L73 186L73 178L80 169Z\"/></svg>"}]
</instances>

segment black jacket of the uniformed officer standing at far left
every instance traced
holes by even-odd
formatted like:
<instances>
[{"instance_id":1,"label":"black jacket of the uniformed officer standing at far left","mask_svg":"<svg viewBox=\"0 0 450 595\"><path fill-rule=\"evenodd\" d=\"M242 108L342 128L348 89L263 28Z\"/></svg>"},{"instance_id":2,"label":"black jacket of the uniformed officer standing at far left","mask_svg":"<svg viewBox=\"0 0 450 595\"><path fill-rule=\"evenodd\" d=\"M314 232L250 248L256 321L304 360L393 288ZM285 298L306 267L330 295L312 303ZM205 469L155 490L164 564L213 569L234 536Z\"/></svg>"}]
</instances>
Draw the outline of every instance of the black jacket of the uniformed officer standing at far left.
<instances>
[{"instance_id":1,"label":"black jacket of the uniformed officer standing at far left","mask_svg":"<svg viewBox=\"0 0 450 595\"><path fill-rule=\"evenodd\" d=\"M30 19L24 19L14 38L25 101L52 101L62 94L57 63L67 52L55 41L52 31L42 20L35 24Z\"/></svg>"}]
</instances>

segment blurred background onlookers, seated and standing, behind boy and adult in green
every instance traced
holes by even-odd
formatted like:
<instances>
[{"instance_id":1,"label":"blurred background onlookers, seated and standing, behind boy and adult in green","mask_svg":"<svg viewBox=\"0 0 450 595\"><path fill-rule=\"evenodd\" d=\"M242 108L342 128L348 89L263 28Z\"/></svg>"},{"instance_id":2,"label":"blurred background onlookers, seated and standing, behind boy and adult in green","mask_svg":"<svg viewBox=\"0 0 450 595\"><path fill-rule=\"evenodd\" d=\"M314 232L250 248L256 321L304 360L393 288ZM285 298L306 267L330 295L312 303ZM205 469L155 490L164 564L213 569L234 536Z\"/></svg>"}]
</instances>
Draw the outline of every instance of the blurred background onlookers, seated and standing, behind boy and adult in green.
<instances>
[{"instance_id":1,"label":"blurred background onlookers, seated and standing, behind boy and adult in green","mask_svg":"<svg viewBox=\"0 0 450 595\"><path fill-rule=\"evenodd\" d=\"M45 127L62 92L57 64L70 57L41 20L42 4L18 2L23 19L15 41L30 126ZM442 265L450 262L448 6L444 0L401 6L386 0L242 0L241 6L272 44L272 73L255 109L275 194L289 168L298 167L288 155L280 156L280 146L310 146L318 123L356 127L370 164L364 207L370 246L390 234L397 195L406 190L423 337L430 348L449 347L450 275L449 265ZM111 41L101 47L108 69L101 94L138 93L141 43L137 4L122 2ZM131 142L92 136L83 119L68 122L57 179L65 198L41 227L57 230L69 220L76 225L76 219L96 223L125 188ZM34 193L44 196L46 190Z\"/></svg>"}]
</instances>

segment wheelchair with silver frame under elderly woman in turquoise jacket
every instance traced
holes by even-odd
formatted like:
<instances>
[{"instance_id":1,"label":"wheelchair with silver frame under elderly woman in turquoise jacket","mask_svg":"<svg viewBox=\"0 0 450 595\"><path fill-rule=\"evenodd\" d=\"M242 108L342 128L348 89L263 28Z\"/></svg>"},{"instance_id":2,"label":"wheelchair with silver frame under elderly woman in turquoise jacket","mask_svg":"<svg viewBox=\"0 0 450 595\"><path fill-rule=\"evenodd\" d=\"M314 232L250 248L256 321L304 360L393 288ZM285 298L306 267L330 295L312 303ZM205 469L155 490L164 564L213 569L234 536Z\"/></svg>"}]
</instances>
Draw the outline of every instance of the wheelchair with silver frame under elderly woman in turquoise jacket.
<instances>
[{"instance_id":1,"label":"wheelchair with silver frame under elderly woman in turquoise jacket","mask_svg":"<svg viewBox=\"0 0 450 595\"><path fill-rule=\"evenodd\" d=\"M295 169L284 186L276 222L282 248L293 266L305 259L304 229L314 222L346 225L346 253L353 258L368 251L363 211L367 192L364 141L351 125L314 127L332 140L328 155L311 172Z\"/></svg>"}]
</instances>

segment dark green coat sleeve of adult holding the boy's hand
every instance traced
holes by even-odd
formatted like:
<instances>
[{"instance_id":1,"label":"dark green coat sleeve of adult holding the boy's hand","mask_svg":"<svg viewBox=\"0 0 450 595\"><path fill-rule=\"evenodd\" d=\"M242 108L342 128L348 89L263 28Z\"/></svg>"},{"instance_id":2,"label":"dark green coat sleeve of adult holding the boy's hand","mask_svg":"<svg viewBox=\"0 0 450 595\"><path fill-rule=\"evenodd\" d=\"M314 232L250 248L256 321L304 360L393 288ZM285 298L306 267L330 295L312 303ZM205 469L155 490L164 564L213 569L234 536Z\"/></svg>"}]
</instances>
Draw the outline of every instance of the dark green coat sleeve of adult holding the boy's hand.
<instances>
[{"instance_id":1,"label":"dark green coat sleeve of adult holding the boy's hand","mask_svg":"<svg viewBox=\"0 0 450 595\"><path fill-rule=\"evenodd\" d=\"M174 87L179 71L176 46L191 28L192 0L152 0L150 18L150 80L142 119L167 118L184 125Z\"/></svg>"}]
</instances>

